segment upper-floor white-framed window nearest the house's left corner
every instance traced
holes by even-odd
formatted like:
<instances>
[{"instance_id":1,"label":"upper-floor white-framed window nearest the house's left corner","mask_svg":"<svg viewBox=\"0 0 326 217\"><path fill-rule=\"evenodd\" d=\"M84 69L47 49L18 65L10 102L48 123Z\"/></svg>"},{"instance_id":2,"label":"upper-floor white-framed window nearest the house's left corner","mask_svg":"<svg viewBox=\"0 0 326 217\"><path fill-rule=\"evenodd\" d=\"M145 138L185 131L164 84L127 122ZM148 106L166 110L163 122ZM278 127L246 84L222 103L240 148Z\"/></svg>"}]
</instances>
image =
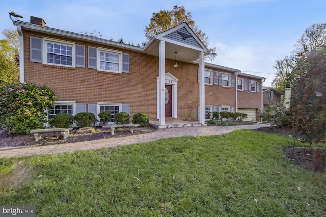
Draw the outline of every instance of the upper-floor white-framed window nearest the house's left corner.
<instances>
[{"instance_id":1,"label":"upper-floor white-framed window nearest the house's left corner","mask_svg":"<svg viewBox=\"0 0 326 217\"><path fill-rule=\"evenodd\" d=\"M43 64L75 67L75 44L43 38Z\"/></svg>"}]
</instances>

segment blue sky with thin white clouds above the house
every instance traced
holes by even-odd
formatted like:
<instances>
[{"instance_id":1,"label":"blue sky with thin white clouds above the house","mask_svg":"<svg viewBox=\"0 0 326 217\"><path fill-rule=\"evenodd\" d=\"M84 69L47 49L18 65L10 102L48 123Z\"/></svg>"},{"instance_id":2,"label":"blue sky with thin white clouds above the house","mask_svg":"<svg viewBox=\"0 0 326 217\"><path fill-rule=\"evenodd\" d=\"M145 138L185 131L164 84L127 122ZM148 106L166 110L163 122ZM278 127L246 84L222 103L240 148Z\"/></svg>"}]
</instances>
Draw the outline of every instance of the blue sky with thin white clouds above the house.
<instances>
[{"instance_id":1,"label":"blue sky with thin white clouds above the house","mask_svg":"<svg viewBox=\"0 0 326 217\"><path fill-rule=\"evenodd\" d=\"M8 14L14 11L25 22L41 17L52 28L96 30L105 39L141 44L152 13L173 5L184 6L210 47L217 47L218 56L208 62L266 77L264 86L273 81L275 60L290 55L304 30L326 22L325 0L15 0L1 1L0 30L16 29Z\"/></svg>"}]
</instances>

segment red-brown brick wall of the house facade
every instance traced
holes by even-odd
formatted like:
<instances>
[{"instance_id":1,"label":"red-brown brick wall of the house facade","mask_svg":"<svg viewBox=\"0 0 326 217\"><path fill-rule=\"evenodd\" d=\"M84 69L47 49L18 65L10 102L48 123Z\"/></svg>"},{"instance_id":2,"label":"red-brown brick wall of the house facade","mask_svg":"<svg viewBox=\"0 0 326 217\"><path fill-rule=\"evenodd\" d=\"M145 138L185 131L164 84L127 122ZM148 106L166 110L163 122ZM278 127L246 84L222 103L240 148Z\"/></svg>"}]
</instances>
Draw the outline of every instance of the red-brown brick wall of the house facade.
<instances>
[{"instance_id":1,"label":"red-brown brick wall of the house facade","mask_svg":"<svg viewBox=\"0 0 326 217\"><path fill-rule=\"evenodd\" d=\"M130 117L135 113L144 112L149 115L151 121L157 120L156 78L158 76L158 57L86 43L85 41L42 35L84 45L86 52L85 68L44 65L30 62L30 36L42 36L28 30L23 30L23 34L26 82L47 83L56 92L58 101L76 101L76 103L86 104L96 104L98 102L129 104ZM88 46L115 49L128 53L130 55L130 73L98 72L96 69L87 68ZM173 64L174 60L166 60L166 72L170 72L179 79L178 120L185 118L197 119L197 107L199 106L198 65L178 62L178 69L174 69ZM238 93L239 108L260 108L260 92L244 91L241 93L239 91ZM235 88L205 85L205 104L235 107Z\"/></svg>"}]
</instances>

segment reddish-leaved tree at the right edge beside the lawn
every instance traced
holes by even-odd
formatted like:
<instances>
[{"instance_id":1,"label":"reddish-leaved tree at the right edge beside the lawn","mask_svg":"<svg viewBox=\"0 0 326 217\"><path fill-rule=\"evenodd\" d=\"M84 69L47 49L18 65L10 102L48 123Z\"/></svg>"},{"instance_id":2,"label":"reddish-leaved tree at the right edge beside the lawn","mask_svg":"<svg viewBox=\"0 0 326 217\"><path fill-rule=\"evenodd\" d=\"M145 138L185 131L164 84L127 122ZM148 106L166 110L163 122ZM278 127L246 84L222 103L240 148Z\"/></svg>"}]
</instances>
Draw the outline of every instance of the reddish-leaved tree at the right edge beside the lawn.
<instances>
[{"instance_id":1,"label":"reddish-leaved tree at the right edge beside the lawn","mask_svg":"<svg viewBox=\"0 0 326 217\"><path fill-rule=\"evenodd\" d=\"M293 87L293 125L303 142L325 143L326 132L326 46L309 52L297 65L302 74Z\"/></svg>"}]
</instances>

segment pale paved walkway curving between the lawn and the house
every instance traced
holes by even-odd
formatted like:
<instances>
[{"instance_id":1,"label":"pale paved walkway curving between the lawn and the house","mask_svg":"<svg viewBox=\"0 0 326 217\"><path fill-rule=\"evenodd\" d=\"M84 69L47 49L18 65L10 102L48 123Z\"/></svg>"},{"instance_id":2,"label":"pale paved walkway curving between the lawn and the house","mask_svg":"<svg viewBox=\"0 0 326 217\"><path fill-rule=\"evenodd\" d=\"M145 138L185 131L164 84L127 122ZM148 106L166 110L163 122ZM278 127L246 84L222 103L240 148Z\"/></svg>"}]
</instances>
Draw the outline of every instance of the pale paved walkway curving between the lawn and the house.
<instances>
[{"instance_id":1,"label":"pale paved walkway curving between the lawn and the house","mask_svg":"<svg viewBox=\"0 0 326 217\"><path fill-rule=\"evenodd\" d=\"M103 147L114 147L118 145L128 145L140 142L149 142L159 140L161 138L182 137L184 135L200 136L200 135L222 135L229 133L234 129L257 129L261 127L269 127L267 124L252 124L240 126L198 126L198 127L182 127L182 128L166 128L159 129L155 132L130 135L127 137L113 137L109 139L85 141L78 143L64 143L46 146L0 146L1 157L20 157L38 154L54 154L62 152L73 152L76 150L99 149Z\"/></svg>"}]
</instances>

